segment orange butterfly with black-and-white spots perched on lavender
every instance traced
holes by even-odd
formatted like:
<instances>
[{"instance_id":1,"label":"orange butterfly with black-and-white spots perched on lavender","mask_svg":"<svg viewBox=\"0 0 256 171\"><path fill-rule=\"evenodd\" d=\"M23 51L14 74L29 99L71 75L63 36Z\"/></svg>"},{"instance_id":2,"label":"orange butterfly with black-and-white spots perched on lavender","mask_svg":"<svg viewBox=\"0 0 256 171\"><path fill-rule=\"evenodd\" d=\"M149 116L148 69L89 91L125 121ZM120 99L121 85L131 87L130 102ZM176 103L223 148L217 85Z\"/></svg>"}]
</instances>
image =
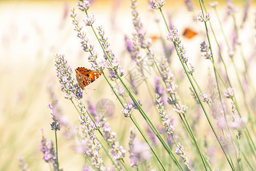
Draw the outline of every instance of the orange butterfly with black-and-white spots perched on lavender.
<instances>
[{"instance_id":1,"label":"orange butterfly with black-and-white spots perched on lavender","mask_svg":"<svg viewBox=\"0 0 256 171\"><path fill-rule=\"evenodd\" d=\"M92 71L84 67L78 67L76 71L76 80L78 81L78 86L82 89L94 82L102 74L101 71Z\"/></svg>"}]
</instances>

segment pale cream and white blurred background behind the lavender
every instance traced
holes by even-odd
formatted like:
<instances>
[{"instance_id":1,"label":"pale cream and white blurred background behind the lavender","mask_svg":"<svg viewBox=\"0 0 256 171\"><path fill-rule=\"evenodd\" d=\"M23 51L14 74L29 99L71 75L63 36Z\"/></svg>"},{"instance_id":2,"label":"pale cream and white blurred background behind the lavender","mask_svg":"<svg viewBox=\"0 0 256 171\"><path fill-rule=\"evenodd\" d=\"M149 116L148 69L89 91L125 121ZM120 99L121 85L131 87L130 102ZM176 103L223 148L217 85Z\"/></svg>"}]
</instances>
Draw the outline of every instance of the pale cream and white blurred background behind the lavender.
<instances>
[{"instance_id":1,"label":"pale cream and white blurred background behind the lavender","mask_svg":"<svg viewBox=\"0 0 256 171\"><path fill-rule=\"evenodd\" d=\"M205 1L208 10L213 14L213 9L208 6L208 2ZM120 59L121 66L125 71L132 70L134 67L125 50L124 43L124 36L131 37L133 29L130 3L127 0L95 0L91 2L89 10L95 15L95 26L103 25L111 48ZM138 3L145 30L149 36L156 38L156 40L153 39L153 49L157 50L160 40L157 37L159 27L154 22L155 17L149 11L147 1ZM194 1L194 3L195 11L199 11L198 1ZM231 27L229 23L232 21L226 19L226 2L219 1L219 3L218 10L222 21L225 22L225 30L228 31ZM246 1L233 1L233 3L238 7L237 19L241 21ZM88 55L80 48L72 19L69 17L71 6L75 6L76 13L79 13L77 5L77 1L0 1L0 170L17 170L19 154L25 156L31 170L48 170L48 165L42 160L43 154L40 153L39 145L42 139L42 128L47 139L54 140L54 132L50 128L51 110L47 108L47 105L51 103L49 87L55 92L59 103L63 105L64 114L72 123L79 125L78 113L70 101L64 99L64 93L60 91L54 66L54 56L64 54L72 68L91 67L91 64L87 62ZM197 32L198 35L194 38L183 37L182 40L184 40L184 46L190 56L190 62L207 71L207 64L197 63L197 60L200 59L199 44L205 40L204 36L200 36L204 35L201 33L204 26L193 21L197 14L189 12L184 1L166 1L163 10L169 17L169 21L176 25L181 33L188 27ZM158 12L156 15L159 15ZM241 34L241 39L247 42L244 44L247 58L251 58L255 52L255 12L255 1L251 1L249 15ZM79 13L78 18L82 19L83 17L84 14ZM213 18L214 22L216 19ZM160 26L162 34L166 35L162 21ZM220 30L218 24L213 26ZM87 30L90 40L97 44L92 31L89 28L85 30ZM230 32L227 34L231 35ZM217 48L215 49L217 50ZM102 56L99 46L95 46L95 50ZM182 75L180 63L177 59L173 59L173 61L178 67L176 72ZM251 59L251 61L255 62L255 59ZM251 72L255 73L255 70L252 69ZM198 78L200 78L200 74L205 73L195 73ZM180 82L182 84L179 87L188 84L186 80ZM204 82L205 80L201 79L202 85L205 85ZM153 83L152 78L152 87ZM84 93L84 103L90 100L96 104L100 99L109 98L115 104L113 117L109 118L109 122L113 123L113 131L118 132L120 128L123 129L121 125L124 125L125 122L127 122L125 124L127 130L131 127L130 121L125 120L121 115L121 107L103 77L88 88L91 89L87 89L87 94ZM139 88L143 89L143 87ZM183 93L184 96L186 94L190 96L187 87ZM141 100L146 100L143 99L143 95L141 95ZM186 100L184 100L185 102ZM144 104L144 107L150 105ZM119 137L119 140L123 140L123 142L126 142L127 139L128 132L123 137ZM71 144L59 135L60 168L82 170L83 156L70 150ZM127 146L124 143L122 145Z\"/></svg>"}]
</instances>

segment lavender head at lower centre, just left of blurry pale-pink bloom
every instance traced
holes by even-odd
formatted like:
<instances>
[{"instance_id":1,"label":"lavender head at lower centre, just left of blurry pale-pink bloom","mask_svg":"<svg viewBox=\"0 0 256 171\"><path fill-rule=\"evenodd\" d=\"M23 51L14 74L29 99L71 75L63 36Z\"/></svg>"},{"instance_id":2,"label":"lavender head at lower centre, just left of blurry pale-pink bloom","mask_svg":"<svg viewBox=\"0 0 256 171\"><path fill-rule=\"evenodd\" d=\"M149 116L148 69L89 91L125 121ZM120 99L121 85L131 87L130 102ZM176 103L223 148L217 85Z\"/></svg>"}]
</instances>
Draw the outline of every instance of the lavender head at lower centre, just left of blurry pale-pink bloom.
<instances>
[{"instance_id":1,"label":"lavender head at lower centre, just left of blurry pale-pink bloom","mask_svg":"<svg viewBox=\"0 0 256 171\"><path fill-rule=\"evenodd\" d=\"M119 145L118 141L116 141L116 133L113 132L109 126L109 123L104 123L102 125L104 137L111 145L111 154L113 159L121 160L126 156L126 150L123 148L123 146Z\"/></svg>"}]
</instances>

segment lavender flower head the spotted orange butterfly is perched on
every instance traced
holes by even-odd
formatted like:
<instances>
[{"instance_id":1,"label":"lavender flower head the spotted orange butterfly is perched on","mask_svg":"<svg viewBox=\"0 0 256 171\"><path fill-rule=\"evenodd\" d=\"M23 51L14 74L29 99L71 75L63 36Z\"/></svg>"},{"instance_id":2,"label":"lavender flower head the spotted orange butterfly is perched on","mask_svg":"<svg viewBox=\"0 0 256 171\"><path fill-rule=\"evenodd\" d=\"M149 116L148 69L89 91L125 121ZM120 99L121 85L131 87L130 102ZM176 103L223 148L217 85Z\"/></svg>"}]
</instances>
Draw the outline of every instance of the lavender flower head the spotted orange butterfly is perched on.
<instances>
[{"instance_id":1,"label":"lavender flower head the spotted orange butterfly is perched on","mask_svg":"<svg viewBox=\"0 0 256 171\"><path fill-rule=\"evenodd\" d=\"M83 92L78 84L74 84L74 78L72 78L72 68L67 64L67 60L64 55L55 56L56 75L59 78L60 84L62 84L62 91L66 93L65 98L71 100L82 99Z\"/></svg>"}]
</instances>

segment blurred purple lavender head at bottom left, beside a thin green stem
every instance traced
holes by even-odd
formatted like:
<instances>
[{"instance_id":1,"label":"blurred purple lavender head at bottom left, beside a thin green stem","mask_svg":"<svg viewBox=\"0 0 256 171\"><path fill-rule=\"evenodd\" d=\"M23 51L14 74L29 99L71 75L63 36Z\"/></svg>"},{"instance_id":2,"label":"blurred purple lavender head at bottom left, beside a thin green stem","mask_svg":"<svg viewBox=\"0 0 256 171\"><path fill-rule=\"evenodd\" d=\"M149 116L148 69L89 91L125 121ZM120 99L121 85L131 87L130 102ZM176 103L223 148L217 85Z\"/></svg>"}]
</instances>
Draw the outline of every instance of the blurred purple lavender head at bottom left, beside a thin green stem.
<instances>
[{"instance_id":1,"label":"blurred purple lavender head at bottom left, beside a thin green stem","mask_svg":"<svg viewBox=\"0 0 256 171\"><path fill-rule=\"evenodd\" d=\"M58 161L53 142L47 141L47 139L43 136L39 148L40 152L43 153L43 160L52 165L54 170L58 170Z\"/></svg>"}]
</instances>

